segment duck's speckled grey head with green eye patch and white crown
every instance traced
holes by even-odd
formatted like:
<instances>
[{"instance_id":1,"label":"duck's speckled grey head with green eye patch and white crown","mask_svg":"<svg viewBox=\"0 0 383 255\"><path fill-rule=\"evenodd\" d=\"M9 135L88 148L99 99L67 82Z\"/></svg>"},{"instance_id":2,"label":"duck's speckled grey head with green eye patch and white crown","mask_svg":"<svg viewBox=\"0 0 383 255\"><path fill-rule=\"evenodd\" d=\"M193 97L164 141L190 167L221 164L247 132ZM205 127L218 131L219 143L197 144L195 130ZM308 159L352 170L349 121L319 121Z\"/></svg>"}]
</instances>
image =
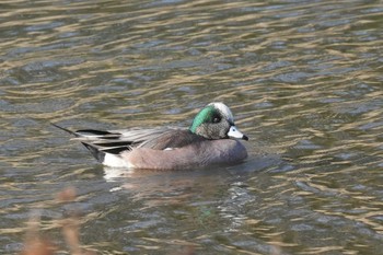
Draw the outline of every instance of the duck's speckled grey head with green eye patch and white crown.
<instances>
[{"instance_id":1,"label":"duck's speckled grey head with green eye patch and white crown","mask_svg":"<svg viewBox=\"0 0 383 255\"><path fill-rule=\"evenodd\" d=\"M223 103L210 103L194 118L189 130L207 139L243 139L243 135L234 124L234 117L230 108Z\"/></svg>"}]
</instances>

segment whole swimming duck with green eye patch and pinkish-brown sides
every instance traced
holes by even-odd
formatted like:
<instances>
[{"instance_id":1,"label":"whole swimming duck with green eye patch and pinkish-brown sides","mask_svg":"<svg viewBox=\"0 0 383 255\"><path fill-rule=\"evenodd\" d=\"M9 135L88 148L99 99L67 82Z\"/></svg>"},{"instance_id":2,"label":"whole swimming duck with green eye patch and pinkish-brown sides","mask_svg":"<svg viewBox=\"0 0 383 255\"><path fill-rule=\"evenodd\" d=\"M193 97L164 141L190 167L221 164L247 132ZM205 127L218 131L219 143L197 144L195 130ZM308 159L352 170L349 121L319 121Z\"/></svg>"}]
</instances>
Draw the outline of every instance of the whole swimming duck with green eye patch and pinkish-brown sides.
<instances>
[{"instance_id":1,"label":"whole swimming duck with green eye patch and pinkish-brown sides","mask_svg":"<svg viewBox=\"0 0 383 255\"><path fill-rule=\"evenodd\" d=\"M177 170L211 164L234 164L247 158L237 140L248 140L234 125L231 111L223 103L210 103L187 128L126 130L83 129L71 131L91 153L107 166Z\"/></svg>"}]
</instances>

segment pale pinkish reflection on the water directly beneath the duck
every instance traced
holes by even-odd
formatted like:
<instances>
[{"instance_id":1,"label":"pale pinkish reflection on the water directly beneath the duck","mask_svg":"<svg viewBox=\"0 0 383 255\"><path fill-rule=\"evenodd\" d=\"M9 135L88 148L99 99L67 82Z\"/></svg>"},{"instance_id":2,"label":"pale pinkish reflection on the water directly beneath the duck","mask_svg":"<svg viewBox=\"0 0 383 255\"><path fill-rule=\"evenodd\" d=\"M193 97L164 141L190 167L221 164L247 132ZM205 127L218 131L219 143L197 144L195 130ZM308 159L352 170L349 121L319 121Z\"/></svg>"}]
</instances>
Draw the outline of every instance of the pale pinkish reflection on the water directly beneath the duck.
<instances>
[{"instance_id":1,"label":"pale pinkish reflection on the water directly beneath the duck","mask_svg":"<svg viewBox=\"0 0 383 255\"><path fill-rule=\"evenodd\" d=\"M195 171L127 171L116 167L104 167L104 178L114 185L111 192L128 192L135 200L142 200L148 207L160 206L163 202L164 195L167 204L178 204L188 200L193 196L192 190L204 193L216 193L216 186L211 183L222 183L228 185L235 176L244 177L247 173L260 172L272 164L277 164L276 157L256 157L253 159L251 167L216 167L201 169ZM248 161L251 163L251 161ZM200 195L198 195L200 196Z\"/></svg>"}]
</instances>

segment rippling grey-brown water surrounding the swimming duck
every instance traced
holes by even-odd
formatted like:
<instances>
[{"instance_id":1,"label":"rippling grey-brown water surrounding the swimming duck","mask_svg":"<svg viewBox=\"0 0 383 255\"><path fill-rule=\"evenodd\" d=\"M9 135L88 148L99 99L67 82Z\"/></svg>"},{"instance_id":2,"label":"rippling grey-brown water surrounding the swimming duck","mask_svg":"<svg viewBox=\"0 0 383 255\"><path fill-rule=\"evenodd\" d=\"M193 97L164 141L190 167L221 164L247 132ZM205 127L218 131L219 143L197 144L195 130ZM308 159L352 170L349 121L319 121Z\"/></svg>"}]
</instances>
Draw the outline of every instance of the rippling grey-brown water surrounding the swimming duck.
<instances>
[{"instance_id":1,"label":"rippling grey-brown water surrounding the swimming duck","mask_svg":"<svg viewBox=\"0 0 383 255\"><path fill-rule=\"evenodd\" d=\"M32 213L68 251L72 208L98 254L381 254L382 1L0 5L1 254ZM188 126L212 101L251 138L245 163L104 169L49 125Z\"/></svg>"}]
</instances>

